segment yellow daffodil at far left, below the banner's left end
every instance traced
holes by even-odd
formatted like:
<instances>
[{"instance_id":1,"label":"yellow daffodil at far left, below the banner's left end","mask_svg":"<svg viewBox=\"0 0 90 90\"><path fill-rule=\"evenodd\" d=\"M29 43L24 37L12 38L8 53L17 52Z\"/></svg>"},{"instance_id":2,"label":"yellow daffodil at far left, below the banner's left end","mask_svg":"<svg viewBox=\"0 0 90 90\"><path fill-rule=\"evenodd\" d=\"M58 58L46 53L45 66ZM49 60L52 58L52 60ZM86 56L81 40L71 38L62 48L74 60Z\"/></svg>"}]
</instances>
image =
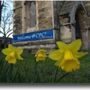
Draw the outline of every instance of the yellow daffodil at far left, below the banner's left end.
<instances>
[{"instance_id":1,"label":"yellow daffodil at far left, below the banner's left end","mask_svg":"<svg viewBox=\"0 0 90 90\"><path fill-rule=\"evenodd\" d=\"M23 53L23 49L20 47L14 47L9 44L8 48L2 50L2 53L6 55L5 60L10 64L15 64L17 59L23 60L21 54Z\"/></svg>"}]
</instances>

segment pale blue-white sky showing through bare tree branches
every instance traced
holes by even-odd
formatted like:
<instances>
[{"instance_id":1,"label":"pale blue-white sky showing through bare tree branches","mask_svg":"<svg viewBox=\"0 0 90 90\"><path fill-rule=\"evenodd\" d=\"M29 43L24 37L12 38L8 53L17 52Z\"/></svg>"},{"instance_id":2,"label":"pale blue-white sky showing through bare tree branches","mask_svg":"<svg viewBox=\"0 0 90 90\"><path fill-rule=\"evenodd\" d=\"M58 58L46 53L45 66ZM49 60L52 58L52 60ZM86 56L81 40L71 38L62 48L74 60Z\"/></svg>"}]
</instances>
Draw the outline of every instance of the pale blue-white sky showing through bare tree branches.
<instances>
[{"instance_id":1,"label":"pale blue-white sky showing through bare tree branches","mask_svg":"<svg viewBox=\"0 0 90 90\"><path fill-rule=\"evenodd\" d=\"M2 10L2 16L4 16L4 18L6 18L7 13L10 12L11 10L13 10L13 2L12 2L12 0L2 0L2 2L3 2L3 1L4 1L7 5L6 5L6 7L4 7L3 10ZM13 20L13 18L10 17L10 20ZM9 22L10 20L8 20L8 22ZM8 23L8 22L7 22L7 23ZM7 28L8 28L8 24L6 25L6 31L7 31ZM13 28L13 25L11 25L11 28ZM1 28L0 28L0 30L1 30ZM1 37L1 36L3 36L3 35L0 33L0 37ZM13 35L10 35L10 37L13 37Z\"/></svg>"}]
</instances>

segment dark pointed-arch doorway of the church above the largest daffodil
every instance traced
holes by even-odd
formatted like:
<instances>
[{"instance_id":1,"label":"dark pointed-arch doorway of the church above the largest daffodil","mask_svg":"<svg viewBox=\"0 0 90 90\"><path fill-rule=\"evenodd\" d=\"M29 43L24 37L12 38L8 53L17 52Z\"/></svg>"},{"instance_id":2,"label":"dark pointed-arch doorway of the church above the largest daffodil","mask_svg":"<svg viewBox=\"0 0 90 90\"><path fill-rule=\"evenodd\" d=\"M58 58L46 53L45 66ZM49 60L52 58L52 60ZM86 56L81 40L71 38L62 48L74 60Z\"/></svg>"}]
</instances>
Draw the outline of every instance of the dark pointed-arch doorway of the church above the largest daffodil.
<instances>
[{"instance_id":1,"label":"dark pointed-arch doorway of the church above the largest daffodil","mask_svg":"<svg viewBox=\"0 0 90 90\"><path fill-rule=\"evenodd\" d=\"M87 30L87 15L82 6L79 6L76 11L76 39L82 40L83 49L88 48L88 30Z\"/></svg>"}]
</instances>

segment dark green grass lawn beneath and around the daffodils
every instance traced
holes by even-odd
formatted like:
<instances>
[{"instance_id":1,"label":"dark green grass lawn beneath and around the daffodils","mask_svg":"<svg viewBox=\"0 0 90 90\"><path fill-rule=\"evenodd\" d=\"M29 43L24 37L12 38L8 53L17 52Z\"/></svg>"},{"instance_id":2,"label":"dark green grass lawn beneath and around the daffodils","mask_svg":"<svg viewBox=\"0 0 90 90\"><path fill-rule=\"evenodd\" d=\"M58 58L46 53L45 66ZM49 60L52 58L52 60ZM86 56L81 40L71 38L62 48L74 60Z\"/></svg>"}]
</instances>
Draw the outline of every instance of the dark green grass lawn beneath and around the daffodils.
<instances>
[{"instance_id":1,"label":"dark green grass lawn beneath and around the daffodils","mask_svg":"<svg viewBox=\"0 0 90 90\"><path fill-rule=\"evenodd\" d=\"M0 54L1 83L90 83L90 52L81 58L81 66L78 71L69 73L62 79L60 77L65 72L58 69L54 65L54 61L49 58L36 63L33 54L24 53L22 57L23 61L18 60L14 66L11 66Z\"/></svg>"}]
</instances>

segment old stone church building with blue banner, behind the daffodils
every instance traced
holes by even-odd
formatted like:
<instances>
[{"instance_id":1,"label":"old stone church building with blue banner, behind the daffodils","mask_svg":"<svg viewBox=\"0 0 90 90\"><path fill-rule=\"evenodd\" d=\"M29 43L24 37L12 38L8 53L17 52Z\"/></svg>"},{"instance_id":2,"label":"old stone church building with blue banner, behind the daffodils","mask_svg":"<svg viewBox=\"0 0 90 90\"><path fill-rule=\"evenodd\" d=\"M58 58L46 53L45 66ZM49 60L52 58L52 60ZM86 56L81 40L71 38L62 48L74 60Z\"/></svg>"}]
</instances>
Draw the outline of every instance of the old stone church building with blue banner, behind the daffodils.
<instances>
[{"instance_id":1,"label":"old stone church building with blue banner, behind the daffodils","mask_svg":"<svg viewBox=\"0 0 90 90\"><path fill-rule=\"evenodd\" d=\"M89 1L14 1L13 44L29 49L81 39L90 48Z\"/></svg>"}]
</instances>

